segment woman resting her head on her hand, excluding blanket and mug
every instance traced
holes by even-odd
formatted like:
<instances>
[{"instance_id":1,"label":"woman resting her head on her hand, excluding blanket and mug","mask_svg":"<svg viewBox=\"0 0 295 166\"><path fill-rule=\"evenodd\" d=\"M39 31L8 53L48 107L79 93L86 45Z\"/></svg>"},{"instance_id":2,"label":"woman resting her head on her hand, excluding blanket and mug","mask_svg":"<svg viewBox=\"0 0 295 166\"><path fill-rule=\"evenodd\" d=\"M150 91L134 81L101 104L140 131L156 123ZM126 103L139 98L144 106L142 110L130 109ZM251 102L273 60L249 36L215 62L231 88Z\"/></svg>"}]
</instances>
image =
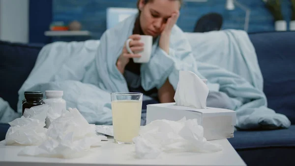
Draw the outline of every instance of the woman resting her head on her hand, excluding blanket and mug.
<instances>
[{"instance_id":1,"label":"woman resting her head on her hand, excluding blanket and mug","mask_svg":"<svg viewBox=\"0 0 295 166\"><path fill-rule=\"evenodd\" d=\"M179 16L181 3L182 0L138 0L139 14L134 24L133 34L129 36L133 39L129 43L131 50L133 52L142 51L144 47L143 43L139 42L140 35L151 35L154 38L154 44L158 44L158 48L170 56L170 36ZM157 39L158 43L156 43ZM157 98L160 102L174 102L175 89L168 78L159 89L153 88L145 91L142 88L140 84L141 64L134 63L132 59L139 57L138 54L128 53L124 46L117 61L118 70L124 74L129 90L143 92ZM134 82L138 84L134 85Z\"/></svg>"}]
</instances>

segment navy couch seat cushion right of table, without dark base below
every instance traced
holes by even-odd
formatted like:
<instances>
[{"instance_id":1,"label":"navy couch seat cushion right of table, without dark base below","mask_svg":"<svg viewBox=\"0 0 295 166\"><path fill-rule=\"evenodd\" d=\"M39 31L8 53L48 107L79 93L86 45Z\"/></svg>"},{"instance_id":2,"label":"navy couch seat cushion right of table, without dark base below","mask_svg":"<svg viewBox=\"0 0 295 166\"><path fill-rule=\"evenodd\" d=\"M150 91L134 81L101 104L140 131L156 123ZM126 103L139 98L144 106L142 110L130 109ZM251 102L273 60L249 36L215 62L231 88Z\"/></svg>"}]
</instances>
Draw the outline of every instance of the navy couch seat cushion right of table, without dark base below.
<instances>
[{"instance_id":1,"label":"navy couch seat cushion right of table, without dark base below","mask_svg":"<svg viewBox=\"0 0 295 166\"><path fill-rule=\"evenodd\" d=\"M295 125L289 129L268 131L237 131L229 141L235 149L294 147Z\"/></svg>"}]
</instances>

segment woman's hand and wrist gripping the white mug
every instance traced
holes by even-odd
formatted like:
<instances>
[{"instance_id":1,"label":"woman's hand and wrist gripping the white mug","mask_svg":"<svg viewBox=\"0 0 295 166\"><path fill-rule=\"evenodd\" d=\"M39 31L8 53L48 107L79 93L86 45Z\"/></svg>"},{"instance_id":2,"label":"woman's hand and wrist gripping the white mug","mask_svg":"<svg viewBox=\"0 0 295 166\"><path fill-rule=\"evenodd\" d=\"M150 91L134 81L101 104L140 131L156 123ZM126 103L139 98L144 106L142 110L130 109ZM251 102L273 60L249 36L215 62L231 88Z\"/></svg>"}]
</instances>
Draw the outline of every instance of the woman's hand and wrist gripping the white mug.
<instances>
[{"instance_id":1,"label":"woman's hand and wrist gripping the white mug","mask_svg":"<svg viewBox=\"0 0 295 166\"><path fill-rule=\"evenodd\" d=\"M140 35L139 34L132 34L129 36L132 39L130 41L129 46L132 52L139 52L144 50L144 43L140 42ZM117 60L117 68L123 74L125 70L125 66L129 63L130 58L140 58L141 55L139 54L130 54L126 49L126 44L124 44L123 50L121 55Z\"/></svg>"}]
</instances>

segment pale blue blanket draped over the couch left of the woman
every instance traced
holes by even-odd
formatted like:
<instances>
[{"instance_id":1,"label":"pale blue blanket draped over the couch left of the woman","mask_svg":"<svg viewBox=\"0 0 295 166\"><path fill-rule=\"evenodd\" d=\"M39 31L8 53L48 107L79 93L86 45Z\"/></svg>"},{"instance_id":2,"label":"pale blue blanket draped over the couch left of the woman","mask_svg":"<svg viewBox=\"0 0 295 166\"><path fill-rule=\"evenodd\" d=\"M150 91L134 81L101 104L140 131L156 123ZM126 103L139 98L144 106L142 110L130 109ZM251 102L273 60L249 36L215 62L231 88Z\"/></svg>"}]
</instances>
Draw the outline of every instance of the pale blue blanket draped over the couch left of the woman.
<instances>
[{"instance_id":1,"label":"pale blue blanket draped over the couch left of the woman","mask_svg":"<svg viewBox=\"0 0 295 166\"><path fill-rule=\"evenodd\" d=\"M18 112L22 111L25 91L63 90L67 107L76 107L89 123L111 124L110 93L82 82L95 61L99 44L99 40L88 40L55 42L43 47L19 90Z\"/></svg>"}]
</instances>

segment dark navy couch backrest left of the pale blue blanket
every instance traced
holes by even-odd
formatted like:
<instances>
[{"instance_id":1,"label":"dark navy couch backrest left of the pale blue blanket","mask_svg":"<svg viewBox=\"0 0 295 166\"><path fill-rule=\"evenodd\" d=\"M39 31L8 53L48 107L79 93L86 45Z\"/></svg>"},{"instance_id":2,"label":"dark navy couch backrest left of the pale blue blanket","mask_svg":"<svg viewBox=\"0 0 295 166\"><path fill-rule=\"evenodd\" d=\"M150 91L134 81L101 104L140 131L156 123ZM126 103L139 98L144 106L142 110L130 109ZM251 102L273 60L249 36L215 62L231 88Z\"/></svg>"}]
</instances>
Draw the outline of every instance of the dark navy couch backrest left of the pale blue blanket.
<instances>
[{"instance_id":1,"label":"dark navy couch backrest left of the pale blue blanket","mask_svg":"<svg viewBox=\"0 0 295 166\"><path fill-rule=\"evenodd\" d=\"M0 41L0 97L14 110L18 90L28 78L42 46Z\"/></svg>"}]
</instances>

